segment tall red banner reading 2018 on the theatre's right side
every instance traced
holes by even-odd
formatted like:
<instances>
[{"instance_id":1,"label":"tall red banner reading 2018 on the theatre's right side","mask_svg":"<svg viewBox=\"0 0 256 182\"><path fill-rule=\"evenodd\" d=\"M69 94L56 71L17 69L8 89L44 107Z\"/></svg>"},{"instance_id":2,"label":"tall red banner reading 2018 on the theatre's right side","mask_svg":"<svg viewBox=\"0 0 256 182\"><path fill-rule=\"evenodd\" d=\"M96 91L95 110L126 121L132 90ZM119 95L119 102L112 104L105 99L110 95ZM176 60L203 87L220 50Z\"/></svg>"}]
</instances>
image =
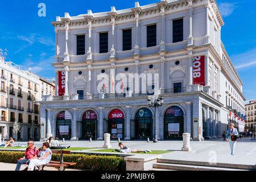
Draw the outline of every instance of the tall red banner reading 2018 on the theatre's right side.
<instances>
[{"instance_id":1,"label":"tall red banner reading 2018 on the theatre's right side","mask_svg":"<svg viewBox=\"0 0 256 182\"><path fill-rule=\"evenodd\" d=\"M193 84L205 86L205 73L204 73L204 56L193 58Z\"/></svg>"}]
</instances>

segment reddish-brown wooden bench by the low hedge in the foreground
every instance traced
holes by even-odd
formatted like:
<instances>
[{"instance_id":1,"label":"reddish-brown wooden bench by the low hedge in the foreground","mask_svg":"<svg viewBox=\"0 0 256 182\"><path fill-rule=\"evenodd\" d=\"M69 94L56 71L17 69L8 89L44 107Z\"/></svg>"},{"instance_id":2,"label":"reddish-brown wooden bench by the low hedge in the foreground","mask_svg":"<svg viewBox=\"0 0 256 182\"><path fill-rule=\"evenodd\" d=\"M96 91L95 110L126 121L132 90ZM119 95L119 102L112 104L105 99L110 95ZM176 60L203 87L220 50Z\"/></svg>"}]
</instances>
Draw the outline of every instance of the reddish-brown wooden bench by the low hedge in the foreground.
<instances>
[{"instance_id":1,"label":"reddish-brown wooden bench by the low hedge in the foreground","mask_svg":"<svg viewBox=\"0 0 256 182\"><path fill-rule=\"evenodd\" d=\"M74 166L76 165L76 163L72 163L72 162L63 162L63 155L64 154L71 154L71 151L65 151L65 150L52 150L52 154L60 154L60 161L54 161L51 160L48 164L44 164L42 166L42 171L44 169L44 167L55 167L56 169L58 169L59 171L64 171L67 167L69 166Z\"/></svg>"}]
</instances>

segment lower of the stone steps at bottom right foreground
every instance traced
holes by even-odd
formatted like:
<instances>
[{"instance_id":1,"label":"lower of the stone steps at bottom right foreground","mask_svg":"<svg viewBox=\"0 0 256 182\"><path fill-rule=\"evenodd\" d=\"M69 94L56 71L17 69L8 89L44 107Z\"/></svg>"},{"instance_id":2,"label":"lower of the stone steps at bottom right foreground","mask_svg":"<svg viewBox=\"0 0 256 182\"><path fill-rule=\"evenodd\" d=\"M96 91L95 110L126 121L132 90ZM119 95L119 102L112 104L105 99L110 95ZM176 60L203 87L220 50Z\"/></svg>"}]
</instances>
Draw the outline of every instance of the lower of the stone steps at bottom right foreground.
<instances>
[{"instance_id":1,"label":"lower of the stone steps at bottom right foreground","mask_svg":"<svg viewBox=\"0 0 256 182\"><path fill-rule=\"evenodd\" d=\"M153 169L171 169L177 171L246 171L243 169L234 168L219 168L219 167L207 167L207 166L191 166L184 164L167 164L167 163L155 163Z\"/></svg>"}]
</instances>

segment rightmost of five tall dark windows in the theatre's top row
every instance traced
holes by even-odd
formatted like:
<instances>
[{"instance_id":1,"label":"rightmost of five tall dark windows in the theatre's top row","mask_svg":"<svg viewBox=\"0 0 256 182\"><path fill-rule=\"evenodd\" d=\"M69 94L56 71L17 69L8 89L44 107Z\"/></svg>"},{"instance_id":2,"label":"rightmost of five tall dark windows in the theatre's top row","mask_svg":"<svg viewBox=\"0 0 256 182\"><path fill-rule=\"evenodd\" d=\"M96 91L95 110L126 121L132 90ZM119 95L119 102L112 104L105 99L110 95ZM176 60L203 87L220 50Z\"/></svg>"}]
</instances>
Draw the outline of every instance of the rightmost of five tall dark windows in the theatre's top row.
<instances>
[{"instance_id":1,"label":"rightmost of five tall dark windows in the theatre's top row","mask_svg":"<svg viewBox=\"0 0 256 182\"><path fill-rule=\"evenodd\" d=\"M183 18L172 22L172 43L183 41Z\"/></svg>"}]
</instances>

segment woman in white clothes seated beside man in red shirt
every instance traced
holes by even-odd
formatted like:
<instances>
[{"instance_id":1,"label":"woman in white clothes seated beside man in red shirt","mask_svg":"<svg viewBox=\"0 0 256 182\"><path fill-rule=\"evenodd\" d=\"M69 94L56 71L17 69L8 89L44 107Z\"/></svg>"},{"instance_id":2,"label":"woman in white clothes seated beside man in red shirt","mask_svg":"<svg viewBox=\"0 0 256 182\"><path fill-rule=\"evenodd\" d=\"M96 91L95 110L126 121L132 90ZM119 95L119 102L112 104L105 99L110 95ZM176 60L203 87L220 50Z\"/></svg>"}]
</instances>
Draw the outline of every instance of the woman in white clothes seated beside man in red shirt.
<instances>
[{"instance_id":1,"label":"woman in white clothes seated beside man in red shirt","mask_svg":"<svg viewBox=\"0 0 256 182\"><path fill-rule=\"evenodd\" d=\"M42 151L39 152L39 156L39 158L30 160L27 171L34 171L35 166L42 166L44 164L48 164L51 161L52 151L49 149L48 142L43 143Z\"/></svg>"}]
</instances>

